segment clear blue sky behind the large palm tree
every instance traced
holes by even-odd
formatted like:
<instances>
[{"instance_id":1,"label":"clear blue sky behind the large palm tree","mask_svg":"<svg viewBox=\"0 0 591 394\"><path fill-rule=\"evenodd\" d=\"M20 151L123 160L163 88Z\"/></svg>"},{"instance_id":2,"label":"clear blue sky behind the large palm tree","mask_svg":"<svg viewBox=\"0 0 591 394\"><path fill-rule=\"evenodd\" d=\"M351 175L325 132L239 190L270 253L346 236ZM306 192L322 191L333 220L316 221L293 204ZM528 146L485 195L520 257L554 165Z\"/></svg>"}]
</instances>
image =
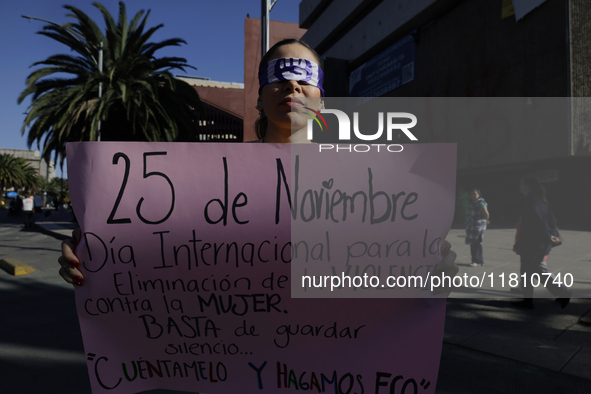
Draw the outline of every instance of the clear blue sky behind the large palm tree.
<instances>
[{"instance_id":1,"label":"clear blue sky behind the large palm tree","mask_svg":"<svg viewBox=\"0 0 591 394\"><path fill-rule=\"evenodd\" d=\"M118 1L100 1L117 19ZM285 22L298 22L299 0L278 0L270 18ZM30 103L21 105L17 98L25 88L25 80L31 73L30 66L57 53L68 53L62 44L48 37L35 34L44 23L28 20L30 15L66 23L70 4L89 15L103 26L102 14L84 0L19 0L0 2L0 148L28 149L25 136L21 135L24 113ZM151 10L147 26L164 24L152 41L182 38L187 45L163 49L159 56L180 56L197 70L187 74L207 77L217 81L243 82L244 73L244 18L261 16L261 0L127 0L128 19L139 10ZM180 72L178 72L180 74ZM31 147L36 149L36 146Z\"/></svg>"}]
</instances>

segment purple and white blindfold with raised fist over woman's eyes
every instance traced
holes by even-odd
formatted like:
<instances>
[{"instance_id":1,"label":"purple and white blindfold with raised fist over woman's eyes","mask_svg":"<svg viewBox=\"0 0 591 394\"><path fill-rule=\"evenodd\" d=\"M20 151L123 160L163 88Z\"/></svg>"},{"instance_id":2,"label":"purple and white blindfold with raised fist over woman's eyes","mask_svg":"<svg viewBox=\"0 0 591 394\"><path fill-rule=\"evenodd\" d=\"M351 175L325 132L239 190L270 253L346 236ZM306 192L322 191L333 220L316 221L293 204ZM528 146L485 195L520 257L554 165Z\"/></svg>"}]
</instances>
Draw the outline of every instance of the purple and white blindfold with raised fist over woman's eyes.
<instances>
[{"instance_id":1,"label":"purple and white blindfold with raised fist over woman's eyes","mask_svg":"<svg viewBox=\"0 0 591 394\"><path fill-rule=\"evenodd\" d=\"M259 70L259 94L263 86L279 81L302 81L314 85L322 92L324 72L320 66L308 59L280 58L273 59Z\"/></svg>"}]
</instances>

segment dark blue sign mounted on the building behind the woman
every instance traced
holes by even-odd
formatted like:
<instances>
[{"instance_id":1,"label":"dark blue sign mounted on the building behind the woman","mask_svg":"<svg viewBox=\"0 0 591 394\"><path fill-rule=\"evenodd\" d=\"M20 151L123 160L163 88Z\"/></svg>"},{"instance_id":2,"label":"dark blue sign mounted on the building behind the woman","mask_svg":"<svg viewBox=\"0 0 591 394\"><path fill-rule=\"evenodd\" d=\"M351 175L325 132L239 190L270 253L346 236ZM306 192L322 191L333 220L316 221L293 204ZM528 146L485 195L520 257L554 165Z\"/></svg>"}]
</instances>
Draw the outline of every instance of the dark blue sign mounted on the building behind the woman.
<instances>
[{"instance_id":1,"label":"dark blue sign mounted on the building behind the woman","mask_svg":"<svg viewBox=\"0 0 591 394\"><path fill-rule=\"evenodd\" d=\"M414 80L415 42L409 34L353 71L351 97L380 97Z\"/></svg>"}]
</instances>

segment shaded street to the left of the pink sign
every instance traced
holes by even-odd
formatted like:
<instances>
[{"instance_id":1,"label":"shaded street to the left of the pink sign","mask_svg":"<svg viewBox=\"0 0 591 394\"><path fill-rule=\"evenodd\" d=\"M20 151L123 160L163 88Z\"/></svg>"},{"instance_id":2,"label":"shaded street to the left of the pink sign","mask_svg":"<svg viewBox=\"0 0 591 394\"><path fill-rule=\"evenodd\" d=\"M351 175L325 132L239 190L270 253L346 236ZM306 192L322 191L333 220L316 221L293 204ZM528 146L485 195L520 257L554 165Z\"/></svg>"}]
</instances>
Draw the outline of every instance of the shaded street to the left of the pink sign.
<instances>
[{"instance_id":1,"label":"shaded street to the left of the pink sign","mask_svg":"<svg viewBox=\"0 0 591 394\"><path fill-rule=\"evenodd\" d=\"M89 393L74 292L56 268L61 241L12 222L0 225L0 258L36 271L15 277L0 270L2 392Z\"/></svg>"}]
</instances>

